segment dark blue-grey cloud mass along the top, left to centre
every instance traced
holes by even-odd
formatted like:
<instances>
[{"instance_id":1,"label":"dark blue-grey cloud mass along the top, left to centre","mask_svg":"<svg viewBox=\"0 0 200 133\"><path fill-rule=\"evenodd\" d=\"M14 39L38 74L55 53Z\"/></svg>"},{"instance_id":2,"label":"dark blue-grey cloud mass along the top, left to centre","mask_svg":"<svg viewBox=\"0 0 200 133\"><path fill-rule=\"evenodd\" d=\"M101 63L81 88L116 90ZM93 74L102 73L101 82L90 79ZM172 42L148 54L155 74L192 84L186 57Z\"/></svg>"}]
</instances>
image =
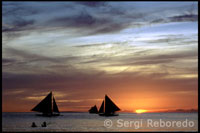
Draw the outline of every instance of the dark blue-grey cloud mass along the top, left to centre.
<instances>
[{"instance_id":1,"label":"dark blue-grey cloud mass along the top, left to centre","mask_svg":"<svg viewBox=\"0 0 200 133\"><path fill-rule=\"evenodd\" d=\"M44 29L62 27L62 29L76 29L76 32L74 32L74 34L104 34L119 32L130 26L132 21L136 21L136 19L141 18L141 15L138 15L137 13L129 13L128 15L127 9L114 7L112 4L107 4L107 2L79 2L79 4L87 7L103 8L93 8L93 11L91 11L87 8L78 6L79 8L74 9L73 13L69 14L68 8L72 7L73 5L70 3L66 5L65 3L64 6L60 6L62 12L66 12L65 15L49 16L45 21L41 21L36 18L30 19L29 16L35 14L38 15L37 10L41 11L41 15L43 12L45 12L45 9L49 12L51 12L52 10L50 10L49 8L36 8L36 5L34 4L33 7L30 7L29 5L28 7L30 8L26 8L18 4L12 6L12 8L8 8L8 6L5 6L3 13L4 21L2 31L24 32L27 30L35 30L39 32L41 30L41 27Z\"/></svg>"}]
</instances>

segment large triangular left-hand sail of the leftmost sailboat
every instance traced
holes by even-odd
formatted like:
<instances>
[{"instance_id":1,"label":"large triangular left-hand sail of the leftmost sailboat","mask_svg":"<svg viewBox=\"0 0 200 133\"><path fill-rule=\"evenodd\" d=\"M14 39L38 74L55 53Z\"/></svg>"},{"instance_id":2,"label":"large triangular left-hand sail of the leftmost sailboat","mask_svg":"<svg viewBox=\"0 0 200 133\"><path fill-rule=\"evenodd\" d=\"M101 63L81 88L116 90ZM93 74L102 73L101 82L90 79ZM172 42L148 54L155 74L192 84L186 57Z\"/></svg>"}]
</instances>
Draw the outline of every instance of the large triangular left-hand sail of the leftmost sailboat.
<instances>
[{"instance_id":1,"label":"large triangular left-hand sail of the leftmost sailboat","mask_svg":"<svg viewBox=\"0 0 200 133\"><path fill-rule=\"evenodd\" d=\"M42 113L52 113L52 92L50 92L38 105L36 105L31 111L37 111Z\"/></svg>"}]
</instances>

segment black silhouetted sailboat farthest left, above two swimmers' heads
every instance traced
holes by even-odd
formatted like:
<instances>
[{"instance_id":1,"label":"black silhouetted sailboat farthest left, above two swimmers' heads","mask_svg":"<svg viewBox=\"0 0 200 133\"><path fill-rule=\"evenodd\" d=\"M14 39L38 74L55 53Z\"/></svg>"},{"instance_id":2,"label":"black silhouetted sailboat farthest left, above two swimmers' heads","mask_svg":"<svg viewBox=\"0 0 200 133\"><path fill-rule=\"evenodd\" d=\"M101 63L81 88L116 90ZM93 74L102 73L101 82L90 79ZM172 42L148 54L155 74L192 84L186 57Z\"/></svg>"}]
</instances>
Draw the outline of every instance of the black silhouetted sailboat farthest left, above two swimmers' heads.
<instances>
[{"instance_id":1,"label":"black silhouetted sailboat farthest left, above two swimmers' heads","mask_svg":"<svg viewBox=\"0 0 200 133\"><path fill-rule=\"evenodd\" d=\"M53 100L52 100L53 98ZM50 92L38 105L36 105L31 111L42 112L38 114L40 116L59 116L60 112L56 104L55 98Z\"/></svg>"}]
</instances>

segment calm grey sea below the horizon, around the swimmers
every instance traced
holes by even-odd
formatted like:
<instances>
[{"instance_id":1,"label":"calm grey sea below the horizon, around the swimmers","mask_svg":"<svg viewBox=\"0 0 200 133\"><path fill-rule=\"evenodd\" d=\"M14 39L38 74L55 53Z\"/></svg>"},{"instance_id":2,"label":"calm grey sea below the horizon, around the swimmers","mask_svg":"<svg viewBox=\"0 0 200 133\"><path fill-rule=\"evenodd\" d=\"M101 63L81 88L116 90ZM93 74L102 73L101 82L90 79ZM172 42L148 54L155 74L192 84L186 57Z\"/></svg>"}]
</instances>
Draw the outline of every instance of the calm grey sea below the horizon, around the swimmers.
<instances>
[{"instance_id":1,"label":"calm grey sea below the horizon, around the swimmers","mask_svg":"<svg viewBox=\"0 0 200 133\"><path fill-rule=\"evenodd\" d=\"M61 113L62 116L42 117L33 112L2 113L2 130L27 131L198 131L198 113L119 113L102 117L89 113ZM41 127L46 121L47 127ZM35 122L37 127L31 127Z\"/></svg>"}]
</instances>

